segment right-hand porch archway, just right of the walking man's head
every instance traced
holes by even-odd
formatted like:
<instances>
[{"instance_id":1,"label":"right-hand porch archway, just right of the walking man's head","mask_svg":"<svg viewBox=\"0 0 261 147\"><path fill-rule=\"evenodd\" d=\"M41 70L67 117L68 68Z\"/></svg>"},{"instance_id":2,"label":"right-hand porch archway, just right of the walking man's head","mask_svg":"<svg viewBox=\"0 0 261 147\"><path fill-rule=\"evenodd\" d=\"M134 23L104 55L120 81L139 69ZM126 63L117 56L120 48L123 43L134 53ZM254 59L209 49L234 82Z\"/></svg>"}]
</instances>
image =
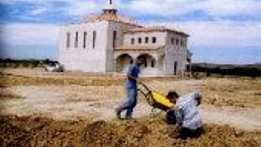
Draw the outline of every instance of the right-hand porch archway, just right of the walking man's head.
<instances>
[{"instance_id":1,"label":"right-hand porch archway, just right of the walking man's head","mask_svg":"<svg viewBox=\"0 0 261 147\"><path fill-rule=\"evenodd\" d=\"M144 58L145 59L145 66L141 70L141 73L143 75L157 75L157 63L156 59L147 53L140 54L138 58Z\"/></svg>"}]
</instances>

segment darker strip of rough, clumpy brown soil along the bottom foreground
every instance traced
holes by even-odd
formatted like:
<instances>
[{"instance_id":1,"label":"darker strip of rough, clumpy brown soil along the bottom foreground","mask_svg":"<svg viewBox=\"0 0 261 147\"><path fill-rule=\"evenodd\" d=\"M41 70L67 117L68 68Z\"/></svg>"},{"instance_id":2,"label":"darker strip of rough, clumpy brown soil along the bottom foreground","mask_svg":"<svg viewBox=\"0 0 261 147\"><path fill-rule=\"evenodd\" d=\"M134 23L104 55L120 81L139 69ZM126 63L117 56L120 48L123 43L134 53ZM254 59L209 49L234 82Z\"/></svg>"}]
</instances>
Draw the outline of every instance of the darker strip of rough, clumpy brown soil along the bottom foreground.
<instances>
[{"instance_id":1,"label":"darker strip of rough, clumpy brown soil along the bottom foreground","mask_svg":"<svg viewBox=\"0 0 261 147\"><path fill-rule=\"evenodd\" d=\"M259 146L261 132L205 124L201 137L171 137L176 126L158 119L122 122L55 121L41 117L0 117L0 145L5 146Z\"/></svg>"}]
</instances>

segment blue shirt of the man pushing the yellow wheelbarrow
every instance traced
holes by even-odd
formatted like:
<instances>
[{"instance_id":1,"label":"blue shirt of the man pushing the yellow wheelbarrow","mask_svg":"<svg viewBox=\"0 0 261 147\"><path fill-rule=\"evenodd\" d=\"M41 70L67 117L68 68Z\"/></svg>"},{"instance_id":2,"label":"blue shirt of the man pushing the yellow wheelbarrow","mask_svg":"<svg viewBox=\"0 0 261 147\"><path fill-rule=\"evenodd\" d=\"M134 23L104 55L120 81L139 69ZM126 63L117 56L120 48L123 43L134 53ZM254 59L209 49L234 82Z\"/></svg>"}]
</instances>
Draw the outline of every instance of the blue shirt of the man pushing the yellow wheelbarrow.
<instances>
[{"instance_id":1,"label":"blue shirt of the man pushing the yellow wheelbarrow","mask_svg":"<svg viewBox=\"0 0 261 147\"><path fill-rule=\"evenodd\" d=\"M139 72L140 72L139 66L137 64L132 64L132 65L130 65L128 67L127 74L131 75L131 76L133 76L135 78L138 78ZM128 80L126 82L126 85L125 85L125 88L127 88L127 89L135 89L135 88L137 88L136 80L128 78Z\"/></svg>"}]
</instances>

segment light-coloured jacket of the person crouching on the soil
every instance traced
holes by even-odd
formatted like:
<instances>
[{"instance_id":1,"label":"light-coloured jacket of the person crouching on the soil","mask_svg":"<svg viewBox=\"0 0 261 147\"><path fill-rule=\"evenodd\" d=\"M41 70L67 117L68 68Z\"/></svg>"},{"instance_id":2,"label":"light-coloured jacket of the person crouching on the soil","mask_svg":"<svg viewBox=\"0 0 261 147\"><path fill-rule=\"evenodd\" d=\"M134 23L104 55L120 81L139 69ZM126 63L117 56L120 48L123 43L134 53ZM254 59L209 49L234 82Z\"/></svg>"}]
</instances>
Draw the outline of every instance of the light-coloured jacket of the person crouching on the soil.
<instances>
[{"instance_id":1,"label":"light-coloured jacket of the person crouching on the soil","mask_svg":"<svg viewBox=\"0 0 261 147\"><path fill-rule=\"evenodd\" d=\"M197 108L198 99L201 100L201 97L200 93L193 92L178 99L175 114L177 123L182 127L191 130L202 127L202 119Z\"/></svg>"}]
</instances>

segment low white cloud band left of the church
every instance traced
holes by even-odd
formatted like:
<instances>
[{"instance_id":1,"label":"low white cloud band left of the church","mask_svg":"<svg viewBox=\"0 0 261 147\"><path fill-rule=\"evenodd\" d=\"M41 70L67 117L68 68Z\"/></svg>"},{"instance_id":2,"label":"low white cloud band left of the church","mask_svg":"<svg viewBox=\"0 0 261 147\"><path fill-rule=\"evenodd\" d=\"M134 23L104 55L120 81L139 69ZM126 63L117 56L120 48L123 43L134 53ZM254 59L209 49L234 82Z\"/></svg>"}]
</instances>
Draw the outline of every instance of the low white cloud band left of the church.
<instances>
[{"instance_id":1,"label":"low white cloud band left of the church","mask_svg":"<svg viewBox=\"0 0 261 147\"><path fill-rule=\"evenodd\" d=\"M59 27L49 24L15 23L1 25L1 41L6 44L51 45L58 43Z\"/></svg>"}]
</instances>

